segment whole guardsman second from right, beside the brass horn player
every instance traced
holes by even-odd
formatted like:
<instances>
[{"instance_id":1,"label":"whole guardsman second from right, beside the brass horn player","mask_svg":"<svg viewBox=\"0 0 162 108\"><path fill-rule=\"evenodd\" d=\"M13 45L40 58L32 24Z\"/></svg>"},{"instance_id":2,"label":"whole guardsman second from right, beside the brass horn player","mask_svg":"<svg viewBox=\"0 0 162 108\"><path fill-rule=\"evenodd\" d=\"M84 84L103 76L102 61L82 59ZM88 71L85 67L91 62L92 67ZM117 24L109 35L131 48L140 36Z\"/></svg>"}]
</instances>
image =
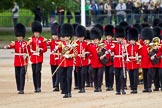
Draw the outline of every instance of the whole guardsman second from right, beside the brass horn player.
<instances>
[{"instance_id":1,"label":"whole guardsman second from right, beside the brass horn player","mask_svg":"<svg viewBox=\"0 0 162 108\"><path fill-rule=\"evenodd\" d=\"M141 31L143 45L140 48L141 68L143 70L144 90L142 92L152 92L153 65L149 56L149 44L154 36L153 29L145 27Z\"/></svg>"}]
</instances>

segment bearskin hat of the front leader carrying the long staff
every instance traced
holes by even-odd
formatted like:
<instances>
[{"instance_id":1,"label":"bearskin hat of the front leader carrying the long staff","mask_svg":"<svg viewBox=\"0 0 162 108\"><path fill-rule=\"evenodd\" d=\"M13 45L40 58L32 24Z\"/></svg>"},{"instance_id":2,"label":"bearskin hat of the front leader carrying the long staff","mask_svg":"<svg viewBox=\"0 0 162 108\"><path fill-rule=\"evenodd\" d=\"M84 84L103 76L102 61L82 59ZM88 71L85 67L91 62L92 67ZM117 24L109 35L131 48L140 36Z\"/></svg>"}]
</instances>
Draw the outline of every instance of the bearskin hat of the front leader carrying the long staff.
<instances>
[{"instance_id":1,"label":"bearskin hat of the front leader carrying the long staff","mask_svg":"<svg viewBox=\"0 0 162 108\"><path fill-rule=\"evenodd\" d=\"M71 24L65 23L61 26L61 36L72 37L74 35L74 28Z\"/></svg>"}]
</instances>

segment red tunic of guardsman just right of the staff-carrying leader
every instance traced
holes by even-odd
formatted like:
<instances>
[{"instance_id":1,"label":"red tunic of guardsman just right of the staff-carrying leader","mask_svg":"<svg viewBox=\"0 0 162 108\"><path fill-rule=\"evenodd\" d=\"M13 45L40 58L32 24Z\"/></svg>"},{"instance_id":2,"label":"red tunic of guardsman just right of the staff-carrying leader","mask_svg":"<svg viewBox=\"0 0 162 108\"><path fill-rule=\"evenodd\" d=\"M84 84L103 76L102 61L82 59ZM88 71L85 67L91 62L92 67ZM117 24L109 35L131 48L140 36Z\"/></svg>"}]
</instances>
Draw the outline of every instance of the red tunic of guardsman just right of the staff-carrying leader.
<instances>
[{"instance_id":1,"label":"red tunic of guardsman just right of the staff-carrying leader","mask_svg":"<svg viewBox=\"0 0 162 108\"><path fill-rule=\"evenodd\" d=\"M88 56L89 53L88 53L88 46L87 46L87 42L86 41L83 41L83 42L80 42L80 41L77 41L77 56L76 56L76 64L75 66L78 66L78 67L81 67L81 66L88 66L89 63L88 63ZM80 57L79 55L82 54L82 53L87 53L85 57Z\"/></svg>"}]
</instances>

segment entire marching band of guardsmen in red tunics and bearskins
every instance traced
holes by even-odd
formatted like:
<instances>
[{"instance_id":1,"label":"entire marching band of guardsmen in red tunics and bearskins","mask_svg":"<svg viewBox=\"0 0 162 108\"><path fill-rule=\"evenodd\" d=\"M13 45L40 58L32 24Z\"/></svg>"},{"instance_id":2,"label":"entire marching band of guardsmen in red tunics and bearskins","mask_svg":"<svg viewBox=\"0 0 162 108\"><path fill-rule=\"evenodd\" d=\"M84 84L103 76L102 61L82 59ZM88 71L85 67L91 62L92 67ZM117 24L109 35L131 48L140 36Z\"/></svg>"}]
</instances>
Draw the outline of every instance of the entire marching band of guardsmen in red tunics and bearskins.
<instances>
[{"instance_id":1,"label":"entire marching band of guardsmen in red tunics and bearskins","mask_svg":"<svg viewBox=\"0 0 162 108\"><path fill-rule=\"evenodd\" d=\"M142 92L152 92L152 81L154 91L159 91L159 88L162 90L161 22L155 19L153 27L147 23L129 25L121 22L116 27L96 24L91 30L79 24L54 23L51 26L52 38L48 41L41 36L42 26L37 21L32 23L33 36L25 41L25 26L18 23L14 28L17 40L4 47L15 49L18 94L24 94L28 61L32 63L34 92L41 92L43 53L47 51L47 46L50 47L53 91L61 89L63 98L72 97L73 73L75 89L79 89L79 93L86 92L86 82L88 86L94 83L94 92L102 92L105 72L106 91L113 90L115 76L116 95L124 95L128 72L130 93L136 94L139 68L143 70Z\"/></svg>"}]
</instances>

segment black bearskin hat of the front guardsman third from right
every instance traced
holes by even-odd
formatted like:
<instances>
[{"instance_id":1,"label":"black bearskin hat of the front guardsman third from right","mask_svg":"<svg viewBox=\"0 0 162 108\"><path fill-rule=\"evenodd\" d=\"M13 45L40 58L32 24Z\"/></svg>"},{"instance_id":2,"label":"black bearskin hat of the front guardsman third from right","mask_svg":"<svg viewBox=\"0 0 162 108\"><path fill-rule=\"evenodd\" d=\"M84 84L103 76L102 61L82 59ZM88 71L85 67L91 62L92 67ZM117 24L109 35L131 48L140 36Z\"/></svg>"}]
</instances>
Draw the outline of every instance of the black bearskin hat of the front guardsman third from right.
<instances>
[{"instance_id":1,"label":"black bearskin hat of the front guardsman third from right","mask_svg":"<svg viewBox=\"0 0 162 108\"><path fill-rule=\"evenodd\" d=\"M136 28L130 28L128 30L128 40L138 41L138 30Z\"/></svg>"}]
</instances>

